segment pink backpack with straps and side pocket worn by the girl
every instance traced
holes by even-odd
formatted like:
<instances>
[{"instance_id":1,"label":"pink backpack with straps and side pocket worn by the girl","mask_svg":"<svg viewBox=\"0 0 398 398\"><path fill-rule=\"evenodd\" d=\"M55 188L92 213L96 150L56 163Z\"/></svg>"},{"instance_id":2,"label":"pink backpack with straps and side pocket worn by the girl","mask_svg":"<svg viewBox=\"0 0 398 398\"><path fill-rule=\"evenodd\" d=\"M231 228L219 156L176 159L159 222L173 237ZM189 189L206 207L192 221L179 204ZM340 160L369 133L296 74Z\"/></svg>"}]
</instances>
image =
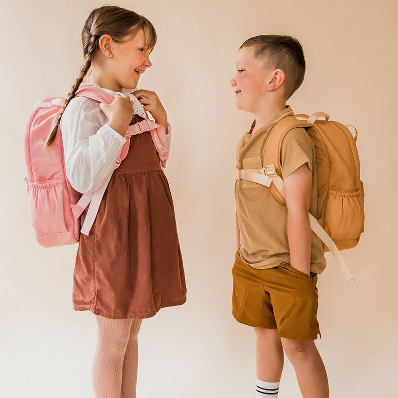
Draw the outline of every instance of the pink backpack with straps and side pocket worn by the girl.
<instances>
[{"instance_id":1,"label":"pink backpack with straps and side pocket worn by the girl","mask_svg":"<svg viewBox=\"0 0 398 398\"><path fill-rule=\"evenodd\" d=\"M80 88L76 97L86 97L105 103L111 103L114 99L95 86ZM62 97L39 101L30 113L25 126L24 150L27 169L25 181L30 217L37 242L43 247L70 245L79 241L80 232L89 234L113 170L126 157L132 135L144 131L151 132L163 167L166 166L168 155L163 126L148 118L135 123L129 126L126 132L127 141L112 172L97 191L81 196L66 178L62 132L59 127L54 143L44 149L46 139L56 123L64 101ZM89 204L85 222L80 230L80 215Z\"/></svg>"}]
</instances>

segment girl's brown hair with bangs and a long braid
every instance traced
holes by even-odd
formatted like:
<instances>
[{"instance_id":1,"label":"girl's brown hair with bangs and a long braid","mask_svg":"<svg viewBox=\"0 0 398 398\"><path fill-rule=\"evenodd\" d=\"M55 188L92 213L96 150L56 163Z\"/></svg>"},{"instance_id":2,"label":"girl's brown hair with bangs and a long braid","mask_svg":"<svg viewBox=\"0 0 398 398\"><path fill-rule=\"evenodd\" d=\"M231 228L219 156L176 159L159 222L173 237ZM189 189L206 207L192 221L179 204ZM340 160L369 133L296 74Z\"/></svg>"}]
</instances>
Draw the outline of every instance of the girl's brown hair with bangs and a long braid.
<instances>
[{"instance_id":1,"label":"girl's brown hair with bangs and a long braid","mask_svg":"<svg viewBox=\"0 0 398 398\"><path fill-rule=\"evenodd\" d=\"M61 116L90 70L92 59L99 50L100 37L108 34L113 41L120 43L128 40L141 29L144 32L146 48L152 49L156 44L156 31L152 23L142 15L113 5L96 8L90 13L82 31L83 55L86 62L81 67L80 75L65 100L53 130L47 137L45 148L53 144Z\"/></svg>"}]
</instances>

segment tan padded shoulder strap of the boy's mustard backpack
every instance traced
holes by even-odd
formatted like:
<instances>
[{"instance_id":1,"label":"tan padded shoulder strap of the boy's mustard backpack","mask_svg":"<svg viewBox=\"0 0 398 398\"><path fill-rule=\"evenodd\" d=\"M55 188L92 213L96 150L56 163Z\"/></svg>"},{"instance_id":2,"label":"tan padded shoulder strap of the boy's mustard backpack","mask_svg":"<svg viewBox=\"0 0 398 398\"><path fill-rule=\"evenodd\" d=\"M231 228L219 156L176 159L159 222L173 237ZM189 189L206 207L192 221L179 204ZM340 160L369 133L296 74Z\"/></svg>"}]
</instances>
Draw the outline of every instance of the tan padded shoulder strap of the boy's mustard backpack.
<instances>
[{"instance_id":1,"label":"tan padded shoulder strap of the boy's mustard backpack","mask_svg":"<svg viewBox=\"0 0 398 398\"><path fill-rule=\"evenodd\" d=\"M294 128L310 126L309 123L304 120L298 120L295 116L286 116L275 124L265 141L262 158L263 167L267 168L267 166L274 165L275 173L277 176L282 177L281 148L283 139ZM285 198L281 195L274 182L271 184L270 190L275 199L284 205L286 204Z\"/></svg>"}]
</instances>

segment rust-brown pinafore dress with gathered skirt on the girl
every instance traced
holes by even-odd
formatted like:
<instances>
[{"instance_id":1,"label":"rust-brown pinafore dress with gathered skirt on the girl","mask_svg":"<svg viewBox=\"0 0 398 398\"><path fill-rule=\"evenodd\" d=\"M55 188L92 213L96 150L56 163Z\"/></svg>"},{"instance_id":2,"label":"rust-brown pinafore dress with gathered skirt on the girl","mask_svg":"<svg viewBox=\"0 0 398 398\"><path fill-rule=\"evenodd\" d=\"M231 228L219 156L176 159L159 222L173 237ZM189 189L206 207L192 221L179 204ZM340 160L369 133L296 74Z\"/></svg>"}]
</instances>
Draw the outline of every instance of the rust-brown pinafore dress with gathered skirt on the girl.
<instances>
[{"instance_id":1,"label":"rust-brown pinafore dress with gathered skirt on the girl","mask_svg":"<svg viewBox=\"0 0 398 398\"><path fill-rule=\"evenodd\" d=\"M150 132L137 134L113 172L90 234L80 234L73 308L141 319L183 304L186 292L169 184Z\"/></svg>"}]
</instances>

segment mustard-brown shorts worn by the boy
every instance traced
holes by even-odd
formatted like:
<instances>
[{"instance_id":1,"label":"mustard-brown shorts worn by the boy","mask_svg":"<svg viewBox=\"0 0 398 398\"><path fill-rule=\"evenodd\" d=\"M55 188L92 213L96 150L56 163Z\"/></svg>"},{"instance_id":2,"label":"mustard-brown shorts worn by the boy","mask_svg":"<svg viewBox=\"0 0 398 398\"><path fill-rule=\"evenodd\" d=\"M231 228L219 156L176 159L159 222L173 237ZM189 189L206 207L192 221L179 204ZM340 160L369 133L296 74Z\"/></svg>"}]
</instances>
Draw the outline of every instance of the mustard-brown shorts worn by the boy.
<instances>
[{"instance_id":1,"label":"mustard-brown shorts worn by the boy","mask_svg":"<svg viewBox=\"0 0 398 398\"><path fill-rule=\"evenodd\" d=\"M280 337L294 340L315 340L320 335L317 274L309 277L288 264L252 268L238 250L232 276L232 314L238 322L278 329Z\"/></svg>"}]
</instances>

